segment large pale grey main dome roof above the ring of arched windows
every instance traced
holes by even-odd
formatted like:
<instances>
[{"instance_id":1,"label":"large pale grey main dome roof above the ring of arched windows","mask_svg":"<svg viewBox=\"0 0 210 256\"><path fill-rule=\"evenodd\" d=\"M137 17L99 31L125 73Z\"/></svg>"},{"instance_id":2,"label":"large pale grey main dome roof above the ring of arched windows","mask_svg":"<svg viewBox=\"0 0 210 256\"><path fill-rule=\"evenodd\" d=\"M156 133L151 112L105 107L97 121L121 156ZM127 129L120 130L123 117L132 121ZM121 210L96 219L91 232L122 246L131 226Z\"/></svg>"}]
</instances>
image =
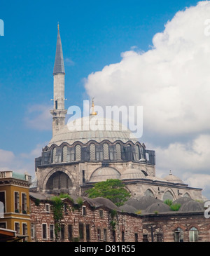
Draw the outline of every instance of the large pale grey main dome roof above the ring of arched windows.
<instances>
[{"instance_id":1,"label":"large pale grey main dome roof above the ring of arched windows","mask_svg":"<svg viewBox=\"0 0 210 256\"><path fill-rule=\"evenodd\" d=\"M97 142L103 140L127 142L131 140L134 143L137 142L134 134L122 123L101 116L85 116L67 123L55 133L48 147L52 144L59 146L62 142L73 144L73 142L79 141L85 144L90 140Z\"/></svg>"}]
</instances>

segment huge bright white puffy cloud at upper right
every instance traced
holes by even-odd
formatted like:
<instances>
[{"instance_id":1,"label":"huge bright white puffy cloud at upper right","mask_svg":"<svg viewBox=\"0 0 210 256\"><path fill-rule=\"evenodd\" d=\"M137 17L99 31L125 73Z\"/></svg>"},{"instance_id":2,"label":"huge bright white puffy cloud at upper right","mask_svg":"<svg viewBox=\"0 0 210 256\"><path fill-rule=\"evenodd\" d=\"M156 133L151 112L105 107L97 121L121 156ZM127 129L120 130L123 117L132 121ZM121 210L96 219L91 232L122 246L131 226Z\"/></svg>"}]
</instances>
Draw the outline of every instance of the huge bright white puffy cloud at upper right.
<instances>
[{"instance_id":1,"label":"huge bright white puffy cloud at upper right","mask_svg":"<svg viewBox=\"0 0 210 256\"><path fill-rule=\"evenodd\" d=\"M102 105L143 105L144 130L153 133L209 130L210 36L204 34L209 13L209 1L176 13L164 32L155 34L151 50L129 50L121 62L90 74L88 95Z\"/></svg>"}]
</instances>

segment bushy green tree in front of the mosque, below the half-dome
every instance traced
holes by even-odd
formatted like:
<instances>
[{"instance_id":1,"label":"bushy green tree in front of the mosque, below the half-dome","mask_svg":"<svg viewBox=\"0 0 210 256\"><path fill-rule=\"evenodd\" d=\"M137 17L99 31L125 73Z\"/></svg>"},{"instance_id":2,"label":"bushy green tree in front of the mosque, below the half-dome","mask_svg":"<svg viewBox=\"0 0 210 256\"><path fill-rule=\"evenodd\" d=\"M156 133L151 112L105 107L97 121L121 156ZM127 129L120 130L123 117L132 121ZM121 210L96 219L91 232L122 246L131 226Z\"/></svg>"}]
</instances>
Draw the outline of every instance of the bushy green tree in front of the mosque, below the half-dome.
<instances>
[{"instance_id":1,"label":"bushy green tree in front of the mosque, below the half-dome","mask_svg":"<svg viewBox=\"0 0 210 256\"><path fill-rule=\"evenodd\" d=\"M120 180L106 180L94 184L92 189L87 190L90 198L104 197L111 200L116 206L123 206L131 194L125 189L125 185Z\"/></svg>"}]
</instances>

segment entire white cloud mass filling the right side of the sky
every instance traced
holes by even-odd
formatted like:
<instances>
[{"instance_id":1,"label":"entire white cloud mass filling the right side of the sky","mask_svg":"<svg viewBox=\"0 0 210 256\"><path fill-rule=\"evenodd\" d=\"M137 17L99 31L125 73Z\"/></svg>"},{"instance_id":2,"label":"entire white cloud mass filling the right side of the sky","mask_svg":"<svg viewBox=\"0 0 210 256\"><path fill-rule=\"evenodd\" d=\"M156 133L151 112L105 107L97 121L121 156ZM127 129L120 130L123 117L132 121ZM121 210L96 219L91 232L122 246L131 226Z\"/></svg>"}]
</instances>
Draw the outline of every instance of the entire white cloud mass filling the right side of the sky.
<instances>
[{"instance_id":1,"label":"entire white cloud mass filling the right side of the sky","mask_svg":"<svg viewBox=\"0 0 210 256\"><path fill-rule=\"evenodd\" d=\"M172 170L210 198L209 13L210 1L179 11L149 50L121 53L120 62L90 74L85 88L103 107L143 106L144 138L156 151L158 175Z\"/></svg>"}]
</instances>

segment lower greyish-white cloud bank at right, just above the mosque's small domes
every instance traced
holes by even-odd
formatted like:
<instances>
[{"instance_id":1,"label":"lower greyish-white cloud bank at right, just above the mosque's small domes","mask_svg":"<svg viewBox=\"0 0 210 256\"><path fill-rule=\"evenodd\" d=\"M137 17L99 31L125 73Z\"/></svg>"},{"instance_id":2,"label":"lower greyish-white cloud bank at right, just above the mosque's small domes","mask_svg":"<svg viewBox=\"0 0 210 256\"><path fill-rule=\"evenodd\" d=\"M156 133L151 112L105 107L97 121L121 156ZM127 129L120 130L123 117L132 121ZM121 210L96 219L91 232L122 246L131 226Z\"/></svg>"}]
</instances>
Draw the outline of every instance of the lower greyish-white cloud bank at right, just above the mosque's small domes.
<instances>
[{"instance_id":1,"label":"lower greyish-white cloud bank at right, just above the mosque's small domes","mask_svg":"<svg viewBox=\"0 0 210 256\"><path fill-rule=\"evenodd\" d=\"M156 175L165 177L172 173L190 187L204 189L210 198L210 135L199 135L188 143L174 142L167 147L155 147L146 143L156 152Z\"/></svg>"}]
</instances>

